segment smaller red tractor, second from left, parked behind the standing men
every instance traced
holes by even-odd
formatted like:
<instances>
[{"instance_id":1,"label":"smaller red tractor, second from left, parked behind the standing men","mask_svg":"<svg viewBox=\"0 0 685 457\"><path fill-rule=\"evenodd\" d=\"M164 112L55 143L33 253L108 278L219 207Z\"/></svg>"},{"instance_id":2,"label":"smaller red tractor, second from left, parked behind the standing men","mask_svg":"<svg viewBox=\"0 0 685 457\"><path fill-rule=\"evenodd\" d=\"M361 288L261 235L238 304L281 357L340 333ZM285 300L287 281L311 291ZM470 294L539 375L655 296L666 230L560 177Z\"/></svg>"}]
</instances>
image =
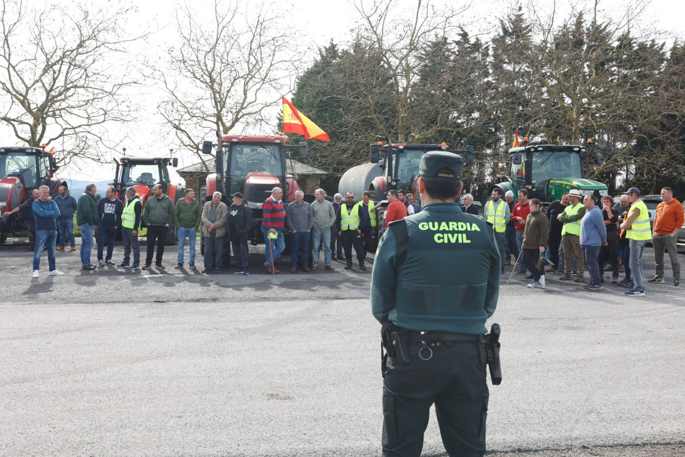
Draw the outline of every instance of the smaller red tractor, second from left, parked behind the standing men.
<instances>
[{"instance_id":1,"label":"smaller red tractor, second from left, parked behind the standing men","mask_svg":"<svg viewBox=\"0 0 685 457\"><path fill-rule=\"evenodd\" d=\"M123 148L126 153L126 148ZM169 149L173 151L173 149ZM121 162L119 162L121 161ZM116 189L116 196L121 201L124 199L126 189L133 186L140 204L145 207L145 202L152 197L152 188L155 184L164 186L164 193L169 195L174 203L183 198L184 188L180 184L171 184L169 177L169 165L178 166L178 158L143 158L123 156L116 163L114 182L111 184ZM173 245L177 242L176 230L173 225L169 227L166 235L166 244Z\"/></svg>"}]
</instances>

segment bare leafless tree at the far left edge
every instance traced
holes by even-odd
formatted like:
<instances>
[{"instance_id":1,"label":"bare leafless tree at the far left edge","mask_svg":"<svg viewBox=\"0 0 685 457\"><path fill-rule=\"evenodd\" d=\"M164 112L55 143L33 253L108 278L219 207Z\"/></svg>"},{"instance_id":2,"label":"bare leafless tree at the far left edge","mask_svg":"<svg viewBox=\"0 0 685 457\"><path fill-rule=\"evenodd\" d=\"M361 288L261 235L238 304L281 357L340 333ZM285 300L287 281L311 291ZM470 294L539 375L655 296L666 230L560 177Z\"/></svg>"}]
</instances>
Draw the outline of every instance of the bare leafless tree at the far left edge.
<instances>
[{"instance_id":1,"label":"bare leafless tree at the far left edge","mask_svg":"<svg viewBox=\"0 0 685 457\"><path fill-rule=\"evenodd\" d=\"M63 164L76 156L99 160L92 145L103 143L105 128L132 119L124 92L136 81L112 73L111 63L135 40L121 38L127 10L73 16L21 1L0 5L0 122L32 147L61 140Z\"/></svg>"}]
</instances>

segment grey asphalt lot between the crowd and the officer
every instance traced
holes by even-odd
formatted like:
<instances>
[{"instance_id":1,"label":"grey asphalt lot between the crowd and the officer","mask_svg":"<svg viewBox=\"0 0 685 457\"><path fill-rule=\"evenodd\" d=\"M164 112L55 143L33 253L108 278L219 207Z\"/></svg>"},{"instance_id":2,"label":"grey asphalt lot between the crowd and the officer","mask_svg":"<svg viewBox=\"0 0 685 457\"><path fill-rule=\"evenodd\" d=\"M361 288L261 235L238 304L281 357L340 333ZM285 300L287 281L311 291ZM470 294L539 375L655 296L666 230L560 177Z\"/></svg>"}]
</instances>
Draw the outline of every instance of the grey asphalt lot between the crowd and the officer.
<instances>
[{"instance_id":1,"label":"grey asphalt lot between the crowd and the officer","mask_svg":"<svg viewBox=\"0 0 685 457\"><path fill-rule=\"evenodd\" d=\"M0 454L379 455L371 269L293 274L286 258L273 276L262 249L249 276L175 270L167 247L163 271L82 271L67 251L64 276L44 259L33 279L27 245L0 246ZM683 287L505 282L490 452L683 454ZM444 452L434 414L424 452Z\"/></svg>"}]
</instances>

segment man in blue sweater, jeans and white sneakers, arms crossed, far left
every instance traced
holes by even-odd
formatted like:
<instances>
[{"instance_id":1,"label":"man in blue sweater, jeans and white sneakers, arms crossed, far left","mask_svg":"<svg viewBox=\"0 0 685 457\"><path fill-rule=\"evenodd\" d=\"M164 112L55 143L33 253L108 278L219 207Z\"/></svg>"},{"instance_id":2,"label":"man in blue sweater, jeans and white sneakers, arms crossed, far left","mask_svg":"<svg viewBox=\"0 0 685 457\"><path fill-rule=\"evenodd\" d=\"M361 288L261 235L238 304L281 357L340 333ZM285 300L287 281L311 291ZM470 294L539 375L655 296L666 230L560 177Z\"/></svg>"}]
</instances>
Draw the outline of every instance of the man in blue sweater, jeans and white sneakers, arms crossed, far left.
<instances>
[{"instance_id":1,"label":"man in blue sweater, jeans and white sneakers, arms crossed, far left","mask_svg":"<svg viewBox=\"0 0 685 457\"><path fill-rule=\"evenodd\" d=\"M47 245L47 262L50 267L50 275L63 275L55 267L55 242L57 241L57 229L55 219L60 217L60 208L50 199L50 188L40 186L40 197L34 200L32 209L36 219L36 247L34 247L34 274L38 277L40 270L40 254Z\"/></svg>"}]
</instances>

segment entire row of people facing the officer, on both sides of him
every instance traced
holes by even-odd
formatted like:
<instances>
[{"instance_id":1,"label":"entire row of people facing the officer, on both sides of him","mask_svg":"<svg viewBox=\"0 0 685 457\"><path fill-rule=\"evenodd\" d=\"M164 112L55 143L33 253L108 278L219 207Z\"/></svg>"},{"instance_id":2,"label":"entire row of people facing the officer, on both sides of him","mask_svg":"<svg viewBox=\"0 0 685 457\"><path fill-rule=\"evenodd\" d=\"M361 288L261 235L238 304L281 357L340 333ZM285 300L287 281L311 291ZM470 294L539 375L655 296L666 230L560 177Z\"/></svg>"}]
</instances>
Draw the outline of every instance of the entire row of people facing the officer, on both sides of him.
<instances>
[{"instance_id":1,"label":"entire row of people facing the officer, on both sides of him","mask_svg":"<svg viewBox=\"0 0 685 457\"><path fill-rule=\"evenodd\" d=\"M161 184L153 187L153 196L143 207L136 197L135 188L125 190L124 199L116 197L116 189L105 190L105 197L96 201L95 184L75 199L69 189L62 186L55 200L49 197L49 188L41 186L33 191L31 205L32 231L35 236L33 276L40 274L40 256L47 251L50 275L61 275L55 266L55 251L67 246L75 251L73 217L81 231L82 269L94 270L91 251L97 236L97 265L114 265L114 239L121 227L123 261L116 267L144 270L164 269L164 245L169 227L177 228L177 262L175 268L184 268L185 245L188 243L188 267L196 269L196 241L198 232L204 242L202 273L223 272L225 238L235 258L234 274L249 275L248 244L253 231L252 210L241 193L231 195L232 205L223 203L220 192L202 204L192 189L186 189L177 203L164 194ZM312 203L304 201L304 193L297 190L294 201L284 206L283 190L275 187L271 196L262 203L263 221L260 227L264 236L264 268L272 274L280 271L275 262L285 249L286 227L292 233L290 271L301 267L310 272L319 269L323 251L322 269L332 271L332 260L343 260L345 269L351 269L353 251L361 271L366 271L364 260L369 251L371 234L377 224L387 229L388 223L421 211L414 195L404 190L388 192L388 206L384 219L377 221L375 211L381 201L372 201L371 193L364 192L361 201L348 192L327 197L325 190L317 189ZM629 296L645 295L642 256L647 241L654 247L656 271L649 283L664 283L664 252L668 251L673 273L673 284L680 285L680 260L677 256L676 234L684 221L683 206L673 198L673 190L661 190L662 203L656 208L653 230L649 213L640 199L640 190L632 187L614 204L612 197L601 197L599 206L593 195L582 195L571 189L559 200L553 201L546 212L538 199L529 199L527 190L521 189L514 198L512 191L503 193L495 188L491 199L484 205L484 218L492 226L501 258L501 273L507 266L526 275L530 288L545 288L545 273L560 275L561 281L584 284L587 291L597 291L605 282L605 272L611 273L612 284L625 286ZM463 197L462 211L478 214L473 196ZM16 208L12 212L21 210ZM147 229L145 262L140 263L138 230ZM59 239L58 239L59 234ZM106 248L106 250L105 250ZM156 252L155 252L156 250ZM549 267L545 269L545 264ZM586 283L585 271L589 281ZM620 275L624 273L623 279Z\"/></svg>"}]
</instances>

